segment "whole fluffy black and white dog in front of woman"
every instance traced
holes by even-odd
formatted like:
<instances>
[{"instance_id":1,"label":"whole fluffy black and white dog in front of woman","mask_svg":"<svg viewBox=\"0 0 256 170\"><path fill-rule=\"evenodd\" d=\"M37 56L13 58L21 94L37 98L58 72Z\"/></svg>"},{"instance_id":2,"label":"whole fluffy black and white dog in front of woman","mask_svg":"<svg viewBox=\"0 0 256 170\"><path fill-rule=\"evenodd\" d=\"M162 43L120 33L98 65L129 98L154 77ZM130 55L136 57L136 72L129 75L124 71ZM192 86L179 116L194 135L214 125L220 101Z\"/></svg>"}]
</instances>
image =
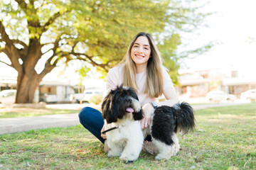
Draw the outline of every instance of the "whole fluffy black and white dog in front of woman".
<instances>
[{"instance_id":1,"label":"whole fluffy black and white dog in front of woman","mask_svg":"<svg viewBox=\"0 0 256 170\"><path fill-rule=\"evenodd\" d=\"M151 135L158 149L156 159L169 159L180 146L177 132L193 130L195 118L188 103L177 103L173 107L159 106L154 110L151 124L142 132L138 120L143 118L136 92L130 87L118 86L110 91L102 103L102 117L110 151L108 157L119 157L133 162L139 157L144 137Z\"/></svg>"}]
</instances>

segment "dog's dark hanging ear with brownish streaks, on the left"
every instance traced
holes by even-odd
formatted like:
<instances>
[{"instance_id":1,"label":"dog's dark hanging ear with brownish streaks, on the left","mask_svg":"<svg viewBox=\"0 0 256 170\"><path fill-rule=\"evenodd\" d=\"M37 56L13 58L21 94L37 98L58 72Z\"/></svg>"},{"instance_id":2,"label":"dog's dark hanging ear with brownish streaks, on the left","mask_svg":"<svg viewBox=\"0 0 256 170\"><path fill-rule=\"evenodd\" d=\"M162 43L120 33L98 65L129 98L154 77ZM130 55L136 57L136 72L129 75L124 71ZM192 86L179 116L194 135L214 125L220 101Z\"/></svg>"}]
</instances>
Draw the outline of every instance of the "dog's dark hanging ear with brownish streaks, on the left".
<instances>
[{"instance_id":1,"label":"dog's dark hanging ear with brownish streaks, on the left","mask_svg":"<svg viewBox=\"0 0 256 170\"><path fill-rule=\"evenodd\" d=\"M111 93L111 92L110 92ZM114 111L113 95L108 94L102 103L102 118L107 120L107 123L117 122L117 111Z\"/></svg>"}]
</instances>

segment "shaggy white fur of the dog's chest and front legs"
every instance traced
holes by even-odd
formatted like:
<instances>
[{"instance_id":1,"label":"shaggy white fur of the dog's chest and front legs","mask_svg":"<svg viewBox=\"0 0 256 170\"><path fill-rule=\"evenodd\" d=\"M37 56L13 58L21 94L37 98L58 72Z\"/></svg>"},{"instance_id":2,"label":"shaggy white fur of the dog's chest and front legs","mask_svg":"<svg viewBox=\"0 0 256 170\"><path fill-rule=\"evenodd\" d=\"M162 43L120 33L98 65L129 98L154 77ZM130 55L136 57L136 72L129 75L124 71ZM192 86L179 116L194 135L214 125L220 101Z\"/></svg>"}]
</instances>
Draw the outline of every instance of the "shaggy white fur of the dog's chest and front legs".
<instances>
[{"instance_id":1,"label":"shaggy white fur of the dog's chest and front legs","mask_svg":"<svg viewBox=\"0 0 256 170\"><path fill-rule=\"evenodd\" d=\"M134 121L132 113L127 113L117 123L107 124L105 121L105 129L113 127L118 128L107 132L107 140L105 142L110 147L107 156L119 157L124 162L133 162L138 159L144 142L139 121Z\"/></svg>"}]
</instances>

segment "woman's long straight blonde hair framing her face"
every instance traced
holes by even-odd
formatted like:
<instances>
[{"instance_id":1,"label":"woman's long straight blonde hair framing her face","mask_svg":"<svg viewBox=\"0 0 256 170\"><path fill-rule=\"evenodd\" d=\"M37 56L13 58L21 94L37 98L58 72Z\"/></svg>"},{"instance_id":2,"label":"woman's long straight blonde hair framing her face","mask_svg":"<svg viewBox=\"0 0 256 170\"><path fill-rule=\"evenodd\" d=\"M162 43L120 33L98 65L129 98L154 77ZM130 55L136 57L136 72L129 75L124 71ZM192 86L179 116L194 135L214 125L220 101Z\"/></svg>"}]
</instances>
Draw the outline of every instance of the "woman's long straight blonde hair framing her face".
<instances>
[{"instance_id":1,"label":"woman's long straight blonde hair framing her face","mask_svg":"<svg viewBox=\"0 0 256 170\"><path fill-rule=\"evenodd\" d=\"M162 61L160 52L157 49L153 38L149 33L138 33L130 43L124 58L119 64L124 64L124 86L132 86L134 89L139 89L136 82L136 64L132 60L131 50L134 42L140 36L144 36L149 40L149 45L151 48L151 57L149 57L149 61L146 67L146 86L144 93L151 98L156 98L163 94L163 73L162 73Z\"/></svg>"}]
</instances>

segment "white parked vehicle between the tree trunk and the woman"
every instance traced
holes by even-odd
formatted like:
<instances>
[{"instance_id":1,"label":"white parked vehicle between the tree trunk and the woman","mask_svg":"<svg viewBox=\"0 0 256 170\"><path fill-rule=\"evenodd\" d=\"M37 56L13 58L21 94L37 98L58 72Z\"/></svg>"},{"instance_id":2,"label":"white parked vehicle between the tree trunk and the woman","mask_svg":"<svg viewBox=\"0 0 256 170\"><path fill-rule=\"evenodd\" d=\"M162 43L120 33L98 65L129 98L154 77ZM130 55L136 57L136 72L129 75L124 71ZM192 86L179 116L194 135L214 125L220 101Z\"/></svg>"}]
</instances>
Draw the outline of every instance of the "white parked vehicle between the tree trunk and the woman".
<instances>
[{"instance_id":1,"label":"white parked vehicle between the tree trunk and the woman","mask_svg":"<svg viewBox=\"0 0 256 170\"><path fill-rule=\"evenodd\" d=\"M103 96L104 91L100 91L100 90L85 90L84 93L82 94L71 94L70 95L70 101L76 102L76 103L80 103L80 100L82 102L90 102L90 98L92 98L92 96Z\"/></svg>"}]
</instances>

